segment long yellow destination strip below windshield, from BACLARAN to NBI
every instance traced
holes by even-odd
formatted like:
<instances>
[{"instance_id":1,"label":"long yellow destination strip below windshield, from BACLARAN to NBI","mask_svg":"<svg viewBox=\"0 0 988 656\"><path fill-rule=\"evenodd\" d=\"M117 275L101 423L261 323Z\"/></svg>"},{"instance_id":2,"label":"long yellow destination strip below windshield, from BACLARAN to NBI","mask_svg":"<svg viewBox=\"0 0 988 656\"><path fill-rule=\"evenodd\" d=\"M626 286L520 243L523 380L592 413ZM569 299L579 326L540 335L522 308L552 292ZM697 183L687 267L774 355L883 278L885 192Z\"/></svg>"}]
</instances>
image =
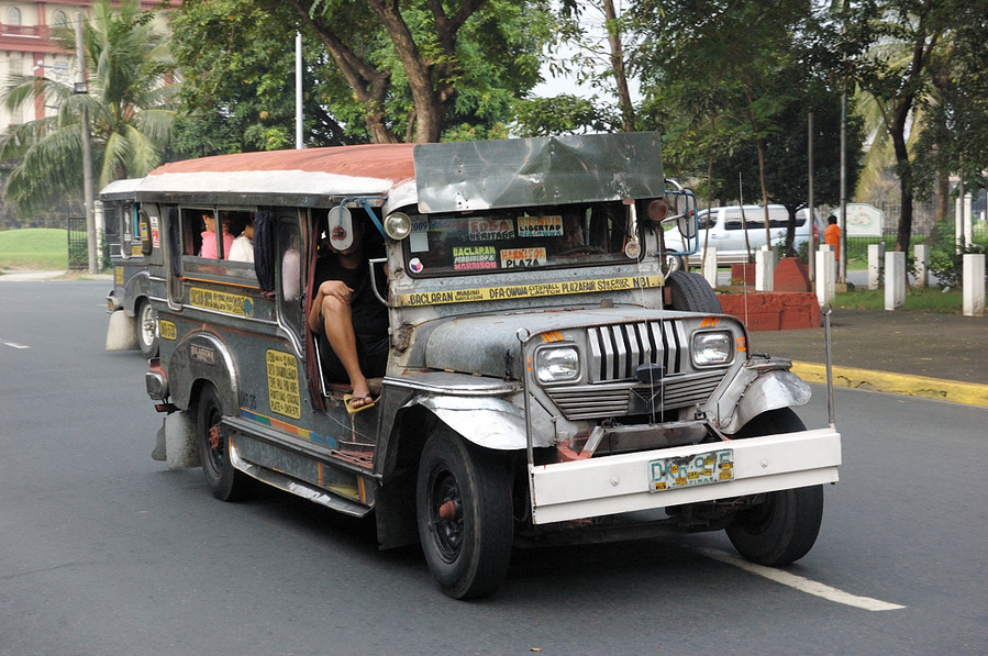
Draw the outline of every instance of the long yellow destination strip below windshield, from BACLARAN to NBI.
<instances>
[{"instance_id":1,"label":"long yellow destination strip below windshield, from BACLARAN to NBI","mask_svg":"<svg viewBox=\"0 0 988 656\"><path fill-rule=\"evenodd\" d=\"M445 303L469 303L476 301L499 301L567 293L593 293L623 291L660 287L662 276L629 276L625 278L602 278L599 280L575 280L573 282L542 282L539 285L511 285L508 287L485 287L480 289L454 289L449 291L426 291L403 293L398 297L399 308L419 305L441 305Z\"/></svg>"}]
</instances>

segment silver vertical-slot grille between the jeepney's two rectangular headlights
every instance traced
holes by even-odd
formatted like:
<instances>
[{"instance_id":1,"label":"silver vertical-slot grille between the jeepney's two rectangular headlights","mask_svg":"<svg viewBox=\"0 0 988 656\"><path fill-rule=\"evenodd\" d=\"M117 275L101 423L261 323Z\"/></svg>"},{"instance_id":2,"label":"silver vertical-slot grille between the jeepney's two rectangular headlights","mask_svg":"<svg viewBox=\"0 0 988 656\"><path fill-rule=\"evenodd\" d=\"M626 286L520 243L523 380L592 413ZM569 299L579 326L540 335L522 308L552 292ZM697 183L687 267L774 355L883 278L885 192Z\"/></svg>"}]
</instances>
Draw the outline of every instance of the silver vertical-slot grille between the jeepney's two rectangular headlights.
<instances>
[{"instance_id":1,"label":"silver vertical-slot grille between the jeepney's two rectangular headlights","mask_svg":"<svg viewBox=\"0 0 988 656\"><path fill-rule=\"evenodd\" d=\"M666 376L684 370L688 356L679 321L648 321L593 326L587 331L590 382L634 380L635 368L662 365Z\"/></svg>"}]
</instances>

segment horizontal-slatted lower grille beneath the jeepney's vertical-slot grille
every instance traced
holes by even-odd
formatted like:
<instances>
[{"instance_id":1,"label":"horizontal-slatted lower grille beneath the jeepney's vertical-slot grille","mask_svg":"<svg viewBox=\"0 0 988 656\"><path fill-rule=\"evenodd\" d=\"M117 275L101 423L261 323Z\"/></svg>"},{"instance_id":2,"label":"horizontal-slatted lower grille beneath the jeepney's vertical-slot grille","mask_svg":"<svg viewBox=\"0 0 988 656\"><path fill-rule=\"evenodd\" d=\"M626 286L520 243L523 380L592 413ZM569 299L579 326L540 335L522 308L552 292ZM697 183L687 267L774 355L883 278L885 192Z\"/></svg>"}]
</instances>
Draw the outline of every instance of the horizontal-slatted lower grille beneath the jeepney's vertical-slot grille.
<instances>
[{"instance_id":1,"label":"horizontal-slatted lower grille beneath the jeepney's vertical-slot grille","mask_svg":"<svg viewBox=\"0 0 988 656\"><path fill-rule=\"evenodd\" d=\"M675 410L706 402L725 374L726 369L715 369L665 378L662 391L655 397L656 410ZM608 382L554 387L546 392L563 415L573 421L628 414L631 389L634 387L644 389L644 386L632 382Z\"/></svg>"}]
</instances>

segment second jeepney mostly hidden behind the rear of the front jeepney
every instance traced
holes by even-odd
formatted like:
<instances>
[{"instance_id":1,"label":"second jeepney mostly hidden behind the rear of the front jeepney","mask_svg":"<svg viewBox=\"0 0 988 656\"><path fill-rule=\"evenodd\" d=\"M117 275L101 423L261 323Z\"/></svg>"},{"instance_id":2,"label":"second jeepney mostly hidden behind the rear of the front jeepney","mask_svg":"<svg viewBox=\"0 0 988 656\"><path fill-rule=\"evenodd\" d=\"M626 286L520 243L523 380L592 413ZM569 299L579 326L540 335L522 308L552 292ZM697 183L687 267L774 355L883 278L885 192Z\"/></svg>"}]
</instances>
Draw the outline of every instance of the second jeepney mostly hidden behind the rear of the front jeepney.
<instances>
[{"instance_id":1,"label":"second jeepney mostly hidden behind the rear of the front jeepney","mask_svg":"<svg viewBox=\"0 0 988 656\"><path fill-rule=\"evenodd\" d=\"M106 234L110 238L113 289L107 294L110 323L107 351L140 348L144 357L158 354L158 322L152 297L164 297L160 226L134 201L143 178L116 180L100 192Z\"/></svg>"}]
</instances>

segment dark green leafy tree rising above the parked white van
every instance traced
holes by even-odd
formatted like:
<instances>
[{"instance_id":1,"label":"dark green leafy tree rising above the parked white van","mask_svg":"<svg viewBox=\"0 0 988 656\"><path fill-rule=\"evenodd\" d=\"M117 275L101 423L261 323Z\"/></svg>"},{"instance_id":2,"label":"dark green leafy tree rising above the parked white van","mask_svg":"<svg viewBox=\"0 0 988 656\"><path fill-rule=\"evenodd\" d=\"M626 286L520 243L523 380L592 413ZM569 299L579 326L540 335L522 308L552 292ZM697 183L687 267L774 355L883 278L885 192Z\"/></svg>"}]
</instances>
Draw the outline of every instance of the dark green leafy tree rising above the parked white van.
<instances>
[{"instance_id":1,"label":"dark green leafy tree rising above the parked white van","mask_svg":"<svg viewBox=\"0 0 988 656\"><path fill-rule=\"evenodd\" d=\"M647 0L635 8L654 44L651 57L643 53L637 62L646 107L688 122L686 132L706 151L709 178L714 162L739 143L754 145L757 196L766 205L767 140L798 92L777 79L799 66L797 35L810 9L806 0Z\"/></svg>"}]
</instances>

